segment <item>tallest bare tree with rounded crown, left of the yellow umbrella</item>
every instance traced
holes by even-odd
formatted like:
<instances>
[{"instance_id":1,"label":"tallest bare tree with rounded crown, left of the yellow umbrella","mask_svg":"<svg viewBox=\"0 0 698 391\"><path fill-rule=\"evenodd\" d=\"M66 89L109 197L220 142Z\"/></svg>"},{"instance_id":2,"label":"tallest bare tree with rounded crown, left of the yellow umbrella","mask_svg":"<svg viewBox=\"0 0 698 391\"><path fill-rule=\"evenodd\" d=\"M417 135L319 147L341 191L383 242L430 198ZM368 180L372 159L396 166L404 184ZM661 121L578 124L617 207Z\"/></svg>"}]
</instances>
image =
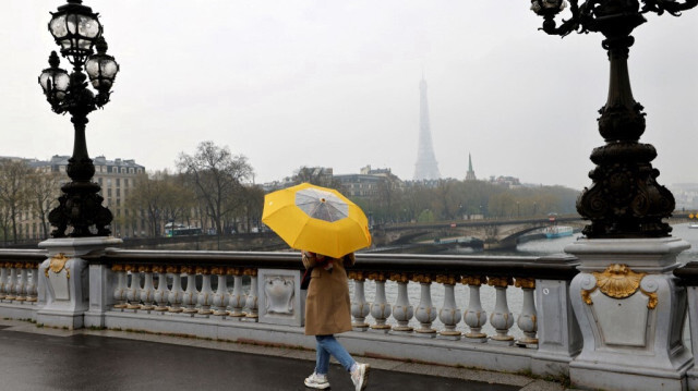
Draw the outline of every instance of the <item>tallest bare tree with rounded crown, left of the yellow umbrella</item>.
<instances>
[{"instance_id":1,"label":"tallest bare tree with rounded crown, left of the yellow umbrella","mask_svg":"<svg viewBox=\"0 0 698 391\"><path fill-rule=\"evenodd\" d=\"M242 203L242 182L252 176L252 167L242 155L231 155L228 147L203 142L194 155L180 154L177 167L195 188L205 210L221 235L224 221Z\"/></svg>"}]
</instances>

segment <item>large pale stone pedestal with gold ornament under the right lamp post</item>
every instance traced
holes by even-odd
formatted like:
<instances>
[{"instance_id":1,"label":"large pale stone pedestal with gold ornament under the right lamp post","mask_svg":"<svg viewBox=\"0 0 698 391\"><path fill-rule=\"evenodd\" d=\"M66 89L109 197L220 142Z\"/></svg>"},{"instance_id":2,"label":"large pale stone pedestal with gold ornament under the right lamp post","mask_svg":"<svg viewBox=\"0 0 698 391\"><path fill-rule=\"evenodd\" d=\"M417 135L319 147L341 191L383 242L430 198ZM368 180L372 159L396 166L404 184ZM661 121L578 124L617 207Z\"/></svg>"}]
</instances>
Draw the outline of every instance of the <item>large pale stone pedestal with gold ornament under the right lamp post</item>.
<instances>
[{"instance_id":1,"label":"large pale stone pedestal with gold ornament under the right lamp post","mask_svg":"<svg viewBox=\"0 0 698 391\"><path fill-rule=\"evenodd\" d=\"M570 298L583 345L573 384L606 390L684 390L691 354L683 340L686 290L672 274L679 239L579 240Z\"/></svg>"}]
</instances>

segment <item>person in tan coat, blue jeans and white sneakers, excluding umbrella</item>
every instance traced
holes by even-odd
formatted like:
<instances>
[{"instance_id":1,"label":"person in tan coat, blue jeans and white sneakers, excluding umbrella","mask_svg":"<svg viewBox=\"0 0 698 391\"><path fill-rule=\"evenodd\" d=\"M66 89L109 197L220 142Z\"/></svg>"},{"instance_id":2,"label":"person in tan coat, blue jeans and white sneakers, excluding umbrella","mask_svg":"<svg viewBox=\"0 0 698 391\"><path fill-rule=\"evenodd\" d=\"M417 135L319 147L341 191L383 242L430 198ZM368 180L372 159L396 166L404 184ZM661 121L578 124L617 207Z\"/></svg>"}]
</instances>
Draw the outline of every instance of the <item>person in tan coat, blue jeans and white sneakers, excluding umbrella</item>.
<instances>
[{"instance_id":1,"label":"person in tan coat, blue jeans and white sneakers, excluding umbrella","mask_svg":"<svg viewBox=\"0 0 698 391\"><path fill-rule=\"evenodd\" d=\"M305 378L313 389L329 388L327 371L334 356L349 374L356 391L364 390L369 380L369 364L357 363L334 334L351 330L351 302L346 266L354 262L353 253L332 258L302 252L303 266L311 272L305 300L305 335L315 335L317 358L315 370Z\"/></svg>"}]
</instances>

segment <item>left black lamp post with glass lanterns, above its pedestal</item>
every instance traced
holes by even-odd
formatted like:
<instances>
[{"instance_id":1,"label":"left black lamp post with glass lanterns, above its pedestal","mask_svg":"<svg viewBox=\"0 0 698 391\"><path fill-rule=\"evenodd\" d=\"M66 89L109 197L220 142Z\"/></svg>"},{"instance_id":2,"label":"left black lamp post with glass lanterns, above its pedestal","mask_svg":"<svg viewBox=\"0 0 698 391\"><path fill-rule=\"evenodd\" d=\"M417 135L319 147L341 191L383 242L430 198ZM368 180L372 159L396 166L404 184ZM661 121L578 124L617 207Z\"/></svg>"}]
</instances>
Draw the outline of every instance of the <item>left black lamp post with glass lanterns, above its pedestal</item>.
<instances>
[{"instance_id":1,"label":"left black lamp post with glass lanterns, above its pedestal","mask_svg":"<svg viewBox=\"0 0 698 391\"><path fill-rule=\"evenodd\" d=\"M49 57L50 68L41 72L39 84L51 109L59 114L70 113L75 127L73 156L68 164L68 176L72 182L61 187L63 194L59 197L59 206L49 213L49 222L56 227L51 236L108 236L112 216L101 206L104 198L98 194L99 185L92 182L95 167L87 155L85 126L87 115L109 102L119 64L106 53L107 42L101 36L97 13L82 5L81 0L68 0L68 4L59 7L51 16L49 32L73 70L69 74L58 68L60 60L53 51ZM87 76L97 95L87 87Z\"/></svg>"}]
</instances>

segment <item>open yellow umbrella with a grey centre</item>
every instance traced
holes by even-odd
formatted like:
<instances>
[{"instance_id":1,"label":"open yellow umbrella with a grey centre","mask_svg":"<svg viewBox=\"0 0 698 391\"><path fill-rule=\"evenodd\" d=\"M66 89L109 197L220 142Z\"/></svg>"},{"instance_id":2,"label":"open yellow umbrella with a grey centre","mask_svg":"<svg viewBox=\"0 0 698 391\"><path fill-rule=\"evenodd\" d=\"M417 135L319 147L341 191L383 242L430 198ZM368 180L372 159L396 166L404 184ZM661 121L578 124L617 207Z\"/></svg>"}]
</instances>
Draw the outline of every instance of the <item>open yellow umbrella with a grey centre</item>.
<instances>
[{"instance_id":1,"label":"open yellow umbrella with a grey centre","mask_svg":"<svg viewBox=\"0 0 698 391\"><path fill-rule=\"evenodd\" d=\"M310 183L264 196L262 222L292 248L334 258L371 245L361 208L334 188Z\"/></svg>"}]
</instances>

